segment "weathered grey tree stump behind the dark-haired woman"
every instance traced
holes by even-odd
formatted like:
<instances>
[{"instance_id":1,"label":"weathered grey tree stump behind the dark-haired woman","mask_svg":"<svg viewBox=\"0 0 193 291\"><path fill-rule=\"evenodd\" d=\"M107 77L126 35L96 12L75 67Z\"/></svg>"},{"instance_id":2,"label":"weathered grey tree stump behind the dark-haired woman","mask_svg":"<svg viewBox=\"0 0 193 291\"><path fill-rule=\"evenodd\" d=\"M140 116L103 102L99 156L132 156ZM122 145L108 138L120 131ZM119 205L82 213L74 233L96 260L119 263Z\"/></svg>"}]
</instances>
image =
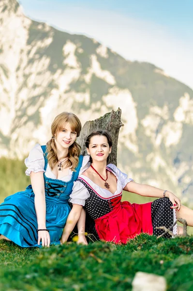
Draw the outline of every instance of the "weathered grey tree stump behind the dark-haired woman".
<instances>
[{"instance_id":1,"label":"weathered grey tree stump behind the dark-haired woman","mask_svg":"<svg viewBox=\"0 0 193 291\"><path fill-rule=\"evenodd\" d=\"M117 145L119 138L119 129L121 126L124 126L121 122L121 110L118 108L117 112L111 111L109 113L104 114L104 116L92 120L87 121L83 126L80 136L77 138L78 144L82 148L82 155L87 155L87 150L85 146L85 141L87 136L96 129L104 129L108 130L113 139L112 152L109 155L108 163L113 163L117 165Z\"/></svg>"}]
</instances>

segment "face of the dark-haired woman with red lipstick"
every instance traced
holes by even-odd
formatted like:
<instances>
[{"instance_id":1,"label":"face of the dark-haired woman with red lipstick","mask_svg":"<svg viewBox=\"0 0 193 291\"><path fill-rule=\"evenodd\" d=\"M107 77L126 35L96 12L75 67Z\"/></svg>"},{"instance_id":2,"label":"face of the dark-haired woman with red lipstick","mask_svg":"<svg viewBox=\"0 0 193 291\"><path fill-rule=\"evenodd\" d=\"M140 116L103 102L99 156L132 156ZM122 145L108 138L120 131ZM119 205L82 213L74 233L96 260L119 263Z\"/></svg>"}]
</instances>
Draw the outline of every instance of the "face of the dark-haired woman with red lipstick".
<instances>
[{"instance_id":1,"label":"face of the dark-haired woman with red lipstick","mask_svg":"<svg viewBox=\"0 0 193 291\"><path fill-rule=\"evenodd\" d=\"M103 162L106 161L108 155L111 153L111 147L109 147L107 138L104 135L94 135L90 139L87 152L93 162Z\"/></svg>"}]
</instances>

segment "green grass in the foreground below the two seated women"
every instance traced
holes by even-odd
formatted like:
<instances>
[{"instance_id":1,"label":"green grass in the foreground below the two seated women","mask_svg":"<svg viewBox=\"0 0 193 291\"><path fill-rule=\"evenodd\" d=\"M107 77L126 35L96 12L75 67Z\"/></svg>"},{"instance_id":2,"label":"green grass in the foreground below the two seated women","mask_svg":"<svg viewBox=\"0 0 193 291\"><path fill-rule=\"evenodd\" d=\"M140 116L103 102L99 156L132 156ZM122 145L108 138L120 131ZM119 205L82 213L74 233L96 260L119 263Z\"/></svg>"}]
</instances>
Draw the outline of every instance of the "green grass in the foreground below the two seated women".
<instances>
[{"instance_id":1,"label":"green grass in the foreground below the two seated women","mask_svg":"<svg viewBox=\"0 0 193 291\"><path fill-rule=\"evenodd\" d=\"M22 249L0 241L0 290L132 290L137 271L163 275L169 291L193 286L193 237L157 240L141 234L126 245L74 242Z\"/></svg>"}]
</instances>

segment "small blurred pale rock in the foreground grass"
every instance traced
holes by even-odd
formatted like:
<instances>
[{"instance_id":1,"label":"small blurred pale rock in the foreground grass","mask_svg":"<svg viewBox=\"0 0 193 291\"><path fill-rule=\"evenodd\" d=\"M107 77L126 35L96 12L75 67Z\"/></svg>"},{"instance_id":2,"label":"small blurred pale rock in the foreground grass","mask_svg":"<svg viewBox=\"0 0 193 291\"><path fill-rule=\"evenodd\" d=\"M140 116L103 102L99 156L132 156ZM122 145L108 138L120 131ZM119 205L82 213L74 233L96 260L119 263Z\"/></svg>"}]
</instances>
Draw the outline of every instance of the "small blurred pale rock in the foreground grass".
<instances>
[{"instance_id":1,"label":"small blurred pale rock in the foreground grass","mask_svg":"<svg viewBox=\"0 0 193 291\"><path fill-rule=\"evenodd\" d=\"M137 272L132 282L132 291L166 291L167 284L163 276Z\"/></svg>"}]
</instances>

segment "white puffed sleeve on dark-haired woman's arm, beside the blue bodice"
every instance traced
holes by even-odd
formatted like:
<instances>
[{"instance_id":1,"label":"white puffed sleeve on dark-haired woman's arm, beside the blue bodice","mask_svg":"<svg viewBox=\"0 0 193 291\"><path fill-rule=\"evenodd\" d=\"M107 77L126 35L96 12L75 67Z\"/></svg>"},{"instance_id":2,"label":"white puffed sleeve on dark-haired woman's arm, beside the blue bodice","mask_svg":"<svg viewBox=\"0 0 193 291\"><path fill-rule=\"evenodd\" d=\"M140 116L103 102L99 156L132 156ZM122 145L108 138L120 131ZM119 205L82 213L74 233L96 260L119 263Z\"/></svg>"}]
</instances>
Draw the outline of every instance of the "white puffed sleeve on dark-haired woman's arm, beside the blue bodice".
<instances>
[{"instance_id":1,"label":"white puffed sleeve on dark-haired woman's arm, beside the blue bodice","mask_svg":"<svg viewBox=\"0 0 193 291\"><path fill-rule=\"evenodd\" d=\"M87 200L89 196L90 194L87 188L80 181L75 181L69 202L85 206L85 200Z\"/></svg>"}]
</instances>

